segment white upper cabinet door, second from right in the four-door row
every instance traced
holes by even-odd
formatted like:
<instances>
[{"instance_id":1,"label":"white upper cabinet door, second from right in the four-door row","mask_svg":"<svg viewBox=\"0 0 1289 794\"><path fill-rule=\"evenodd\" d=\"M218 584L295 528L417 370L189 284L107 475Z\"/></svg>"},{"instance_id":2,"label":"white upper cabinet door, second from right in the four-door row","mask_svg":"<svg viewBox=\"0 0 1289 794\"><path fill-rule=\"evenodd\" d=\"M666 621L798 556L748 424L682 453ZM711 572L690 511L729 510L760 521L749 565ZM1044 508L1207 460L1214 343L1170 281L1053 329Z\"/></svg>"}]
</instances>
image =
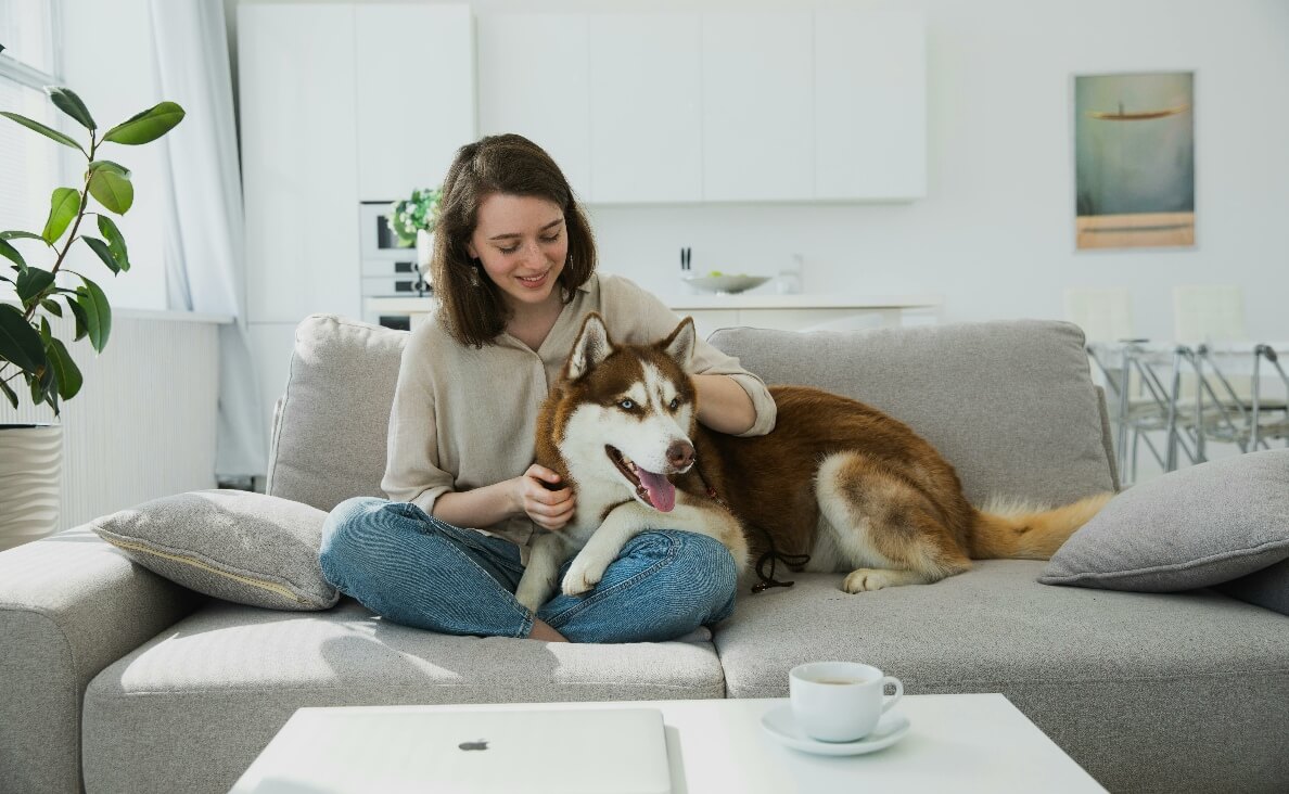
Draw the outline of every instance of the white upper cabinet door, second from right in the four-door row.
<instances>
[{"instance_id":1,"label":"white upper cabinet door, second from right in the four-door row","mask_svg":"<svg viewBox=\"0 0 1289 794\"><path fill-rule=\"evenodd\" d=\"M809 12L703 14L703 197L815 196Z\"/></svg>"}]
</instances>

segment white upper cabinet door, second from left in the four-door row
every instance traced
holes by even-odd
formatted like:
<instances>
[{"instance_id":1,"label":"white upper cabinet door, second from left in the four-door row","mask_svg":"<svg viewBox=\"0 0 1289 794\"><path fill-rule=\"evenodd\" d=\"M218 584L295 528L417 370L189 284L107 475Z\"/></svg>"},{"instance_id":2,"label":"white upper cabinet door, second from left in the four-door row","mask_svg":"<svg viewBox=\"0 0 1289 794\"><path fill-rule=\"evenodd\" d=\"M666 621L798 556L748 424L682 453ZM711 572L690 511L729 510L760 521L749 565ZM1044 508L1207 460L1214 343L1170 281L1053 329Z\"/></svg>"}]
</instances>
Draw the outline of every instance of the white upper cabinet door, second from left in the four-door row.
<instances>
[{"instance_id":1,"label":"white upper cabinet door, second from left in the four-door row","mask_svg":"<svg viewBox=\"0 0 1289 794\"><path fill-rule=\"evenodd\" d=\"M590 17L590 195L601 204L703 198L697 14Z\"/></svg>"}]
</instances>

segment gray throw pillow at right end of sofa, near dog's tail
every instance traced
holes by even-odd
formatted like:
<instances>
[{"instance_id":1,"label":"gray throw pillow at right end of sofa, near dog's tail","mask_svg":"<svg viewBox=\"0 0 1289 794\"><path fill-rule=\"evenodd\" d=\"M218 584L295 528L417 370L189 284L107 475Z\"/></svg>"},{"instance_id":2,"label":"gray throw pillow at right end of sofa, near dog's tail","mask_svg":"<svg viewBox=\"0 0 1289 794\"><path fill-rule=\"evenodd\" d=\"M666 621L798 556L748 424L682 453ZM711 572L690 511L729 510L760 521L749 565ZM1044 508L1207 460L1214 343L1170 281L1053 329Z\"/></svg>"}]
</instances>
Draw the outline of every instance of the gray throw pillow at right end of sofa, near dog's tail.
<instances>
[{"instance_id":1,"label":"gray throw pillow at right end of sofa, near dog's tail","mask_svg":"<svg viewBox=\"0 0 1289 794\"><path fill-rule=\"evenodd\" d=\"M1039 581L1111 590L1212 586L1289 558L1289 450L1179 469L1115 496Z\"/></svg>"}]
</instances>

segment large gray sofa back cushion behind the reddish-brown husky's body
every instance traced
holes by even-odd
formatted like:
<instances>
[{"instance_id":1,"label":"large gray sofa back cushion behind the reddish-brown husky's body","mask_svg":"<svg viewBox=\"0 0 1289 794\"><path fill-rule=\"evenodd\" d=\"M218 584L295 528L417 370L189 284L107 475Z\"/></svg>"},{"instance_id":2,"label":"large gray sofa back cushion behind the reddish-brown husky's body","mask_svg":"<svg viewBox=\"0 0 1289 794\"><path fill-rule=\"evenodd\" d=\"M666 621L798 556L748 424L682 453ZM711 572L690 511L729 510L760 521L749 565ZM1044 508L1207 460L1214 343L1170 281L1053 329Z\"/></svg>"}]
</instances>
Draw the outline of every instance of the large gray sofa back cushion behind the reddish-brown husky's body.
<instances>
[{"instance_id":1,"label":"large gray sofa back cushion behind the reddish-brown husky's body","mask_svg":"<svg viewBox=\"0 0 1289 794\"><path fill-rule=\"evenodd\" d=\"M1116 489L1075 325L741 327L709 342L766 383L815 385L904 420L958 469L974 504L994 496L1063 504Z\"/></svg>"}]
</instances>

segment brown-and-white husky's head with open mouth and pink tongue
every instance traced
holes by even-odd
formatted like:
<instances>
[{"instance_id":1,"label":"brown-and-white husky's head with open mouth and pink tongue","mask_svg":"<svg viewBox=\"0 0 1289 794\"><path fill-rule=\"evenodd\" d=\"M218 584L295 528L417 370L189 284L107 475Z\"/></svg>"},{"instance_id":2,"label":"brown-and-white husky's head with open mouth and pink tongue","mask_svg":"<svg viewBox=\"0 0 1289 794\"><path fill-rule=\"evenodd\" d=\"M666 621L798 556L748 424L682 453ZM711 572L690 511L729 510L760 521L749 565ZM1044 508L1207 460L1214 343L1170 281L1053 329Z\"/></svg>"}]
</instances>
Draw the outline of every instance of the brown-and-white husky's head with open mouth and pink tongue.
<instances>
[{"instance_id":1,"label":"brown-and-white husky's head with open mouth and pink tongue","mask_svg":"<svg viewBox=\"0 0 1289 794\"><path fill-rule=\"evenodd\" d=\"M592 313L543 411L541 433L580 489L619 487L657 510L675 507L670 474L693 465L697 393L686 317L654 344L617 344Z\"/></svg>"}]
</instances>

